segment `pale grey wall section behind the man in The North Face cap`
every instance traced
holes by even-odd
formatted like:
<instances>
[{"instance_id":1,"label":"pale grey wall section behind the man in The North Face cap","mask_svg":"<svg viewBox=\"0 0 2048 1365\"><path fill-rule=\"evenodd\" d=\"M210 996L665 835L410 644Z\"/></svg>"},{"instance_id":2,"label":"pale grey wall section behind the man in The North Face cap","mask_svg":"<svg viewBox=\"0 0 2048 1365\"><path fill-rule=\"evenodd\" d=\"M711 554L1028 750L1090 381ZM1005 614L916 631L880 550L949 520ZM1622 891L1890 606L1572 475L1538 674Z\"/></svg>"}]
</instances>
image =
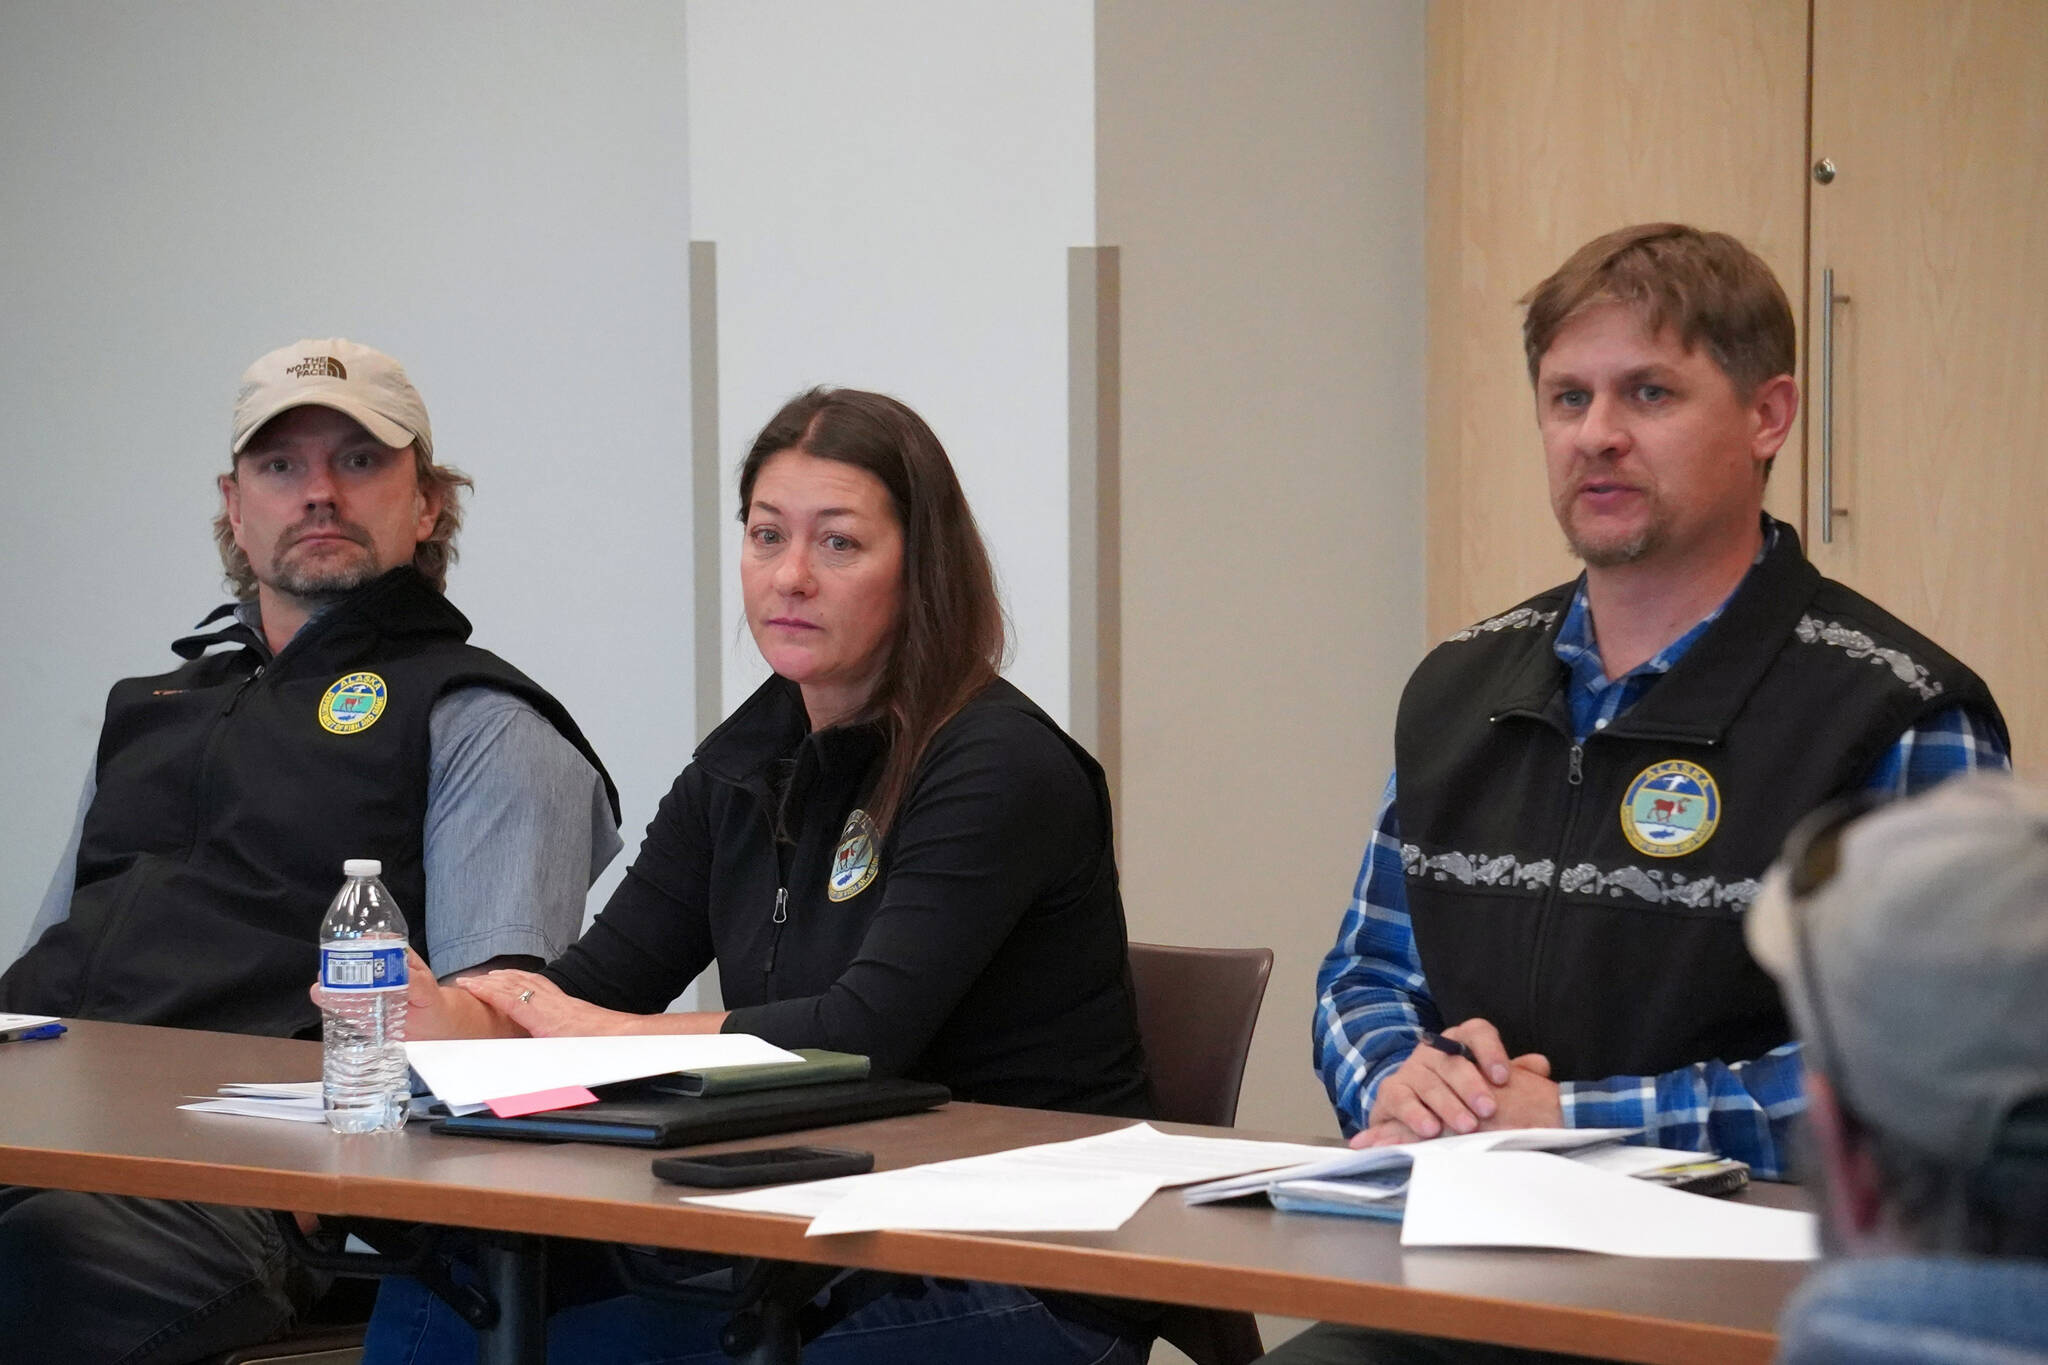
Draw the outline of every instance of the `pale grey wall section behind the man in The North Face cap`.
<instances>
[{"instance_id":1,"label":"pale grey wall section behind the man in The North Face cap","mask_svg":"<svg viewBox=\"0 0 2048 1365\"><path fill-rule=\"evenodd\" d=\"M662 0L0 6L0 962L106 686L221 600L236 377L299 336L412 370L477 479L451 598L631 855L694 739L682 80Z\"/></svg>"}]
</instances>

